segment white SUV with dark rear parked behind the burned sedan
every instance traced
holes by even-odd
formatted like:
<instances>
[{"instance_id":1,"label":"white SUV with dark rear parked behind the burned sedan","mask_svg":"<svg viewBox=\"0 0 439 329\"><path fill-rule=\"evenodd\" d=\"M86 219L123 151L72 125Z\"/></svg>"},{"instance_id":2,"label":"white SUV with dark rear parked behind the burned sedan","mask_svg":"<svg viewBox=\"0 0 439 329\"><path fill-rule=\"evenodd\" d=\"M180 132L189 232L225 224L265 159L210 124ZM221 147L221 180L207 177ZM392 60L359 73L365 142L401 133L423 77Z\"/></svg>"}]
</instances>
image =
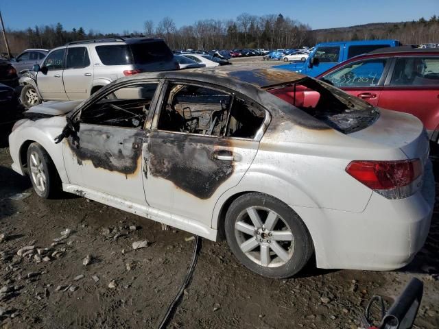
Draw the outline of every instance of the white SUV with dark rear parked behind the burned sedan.
<instances>
[{"instance_id":1,"label":"white SUV with dark rear parked behind the burned sedan","mask_svg":"<svg viewBox=\"0 0 439 329\"><path fill-rule=\"evenodd\" d=\"M41 101L86 99L126 75L178 69L161 38L117 37L82 40L50 51L21 78L21 101L27 108Z\"/></svg>"}]
</instances>

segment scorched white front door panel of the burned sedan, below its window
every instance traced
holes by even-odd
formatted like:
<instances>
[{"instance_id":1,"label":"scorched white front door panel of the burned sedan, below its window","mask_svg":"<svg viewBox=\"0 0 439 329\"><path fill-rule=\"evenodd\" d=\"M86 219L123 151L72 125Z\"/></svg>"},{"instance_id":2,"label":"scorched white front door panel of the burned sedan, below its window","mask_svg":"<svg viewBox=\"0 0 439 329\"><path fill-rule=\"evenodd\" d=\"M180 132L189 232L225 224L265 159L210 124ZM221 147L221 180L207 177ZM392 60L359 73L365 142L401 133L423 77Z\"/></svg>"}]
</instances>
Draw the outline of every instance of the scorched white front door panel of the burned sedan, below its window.
<instances>
[{"instance_id":1,"label":"scorched white front door panel of the burned sedan, below its window","mask_svg":"<svg viewBox=\"0 0 439 329\"><path fill-rule=\"evenodd\" d=\"M140 129L82 123L64 139L64 166L71 184L145 204Z\"/></svg>"}]
</instances>

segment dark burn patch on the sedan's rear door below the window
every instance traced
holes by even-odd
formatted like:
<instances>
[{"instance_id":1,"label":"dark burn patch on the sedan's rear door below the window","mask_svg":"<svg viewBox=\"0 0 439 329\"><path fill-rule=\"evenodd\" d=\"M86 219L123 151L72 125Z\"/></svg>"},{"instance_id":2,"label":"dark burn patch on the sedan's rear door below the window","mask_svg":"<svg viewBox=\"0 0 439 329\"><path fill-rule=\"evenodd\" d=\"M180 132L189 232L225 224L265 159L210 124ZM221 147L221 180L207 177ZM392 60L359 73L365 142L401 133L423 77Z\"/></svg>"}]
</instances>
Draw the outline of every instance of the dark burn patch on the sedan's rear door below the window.
<instances>
[{"instance_id":1,"label":"dark burn patch on the sedan's rear door below the window","mask_svg":"<svg viewBox=\"0 0 439 329\"><path fill-rule=\"evenodd\" d=\"M233 162L217 160L216 152L230 153L230 141L185 134L150 134L148 174L164 178L200 199L209 199L233 173Z\"/></svg>"}]
</instances>

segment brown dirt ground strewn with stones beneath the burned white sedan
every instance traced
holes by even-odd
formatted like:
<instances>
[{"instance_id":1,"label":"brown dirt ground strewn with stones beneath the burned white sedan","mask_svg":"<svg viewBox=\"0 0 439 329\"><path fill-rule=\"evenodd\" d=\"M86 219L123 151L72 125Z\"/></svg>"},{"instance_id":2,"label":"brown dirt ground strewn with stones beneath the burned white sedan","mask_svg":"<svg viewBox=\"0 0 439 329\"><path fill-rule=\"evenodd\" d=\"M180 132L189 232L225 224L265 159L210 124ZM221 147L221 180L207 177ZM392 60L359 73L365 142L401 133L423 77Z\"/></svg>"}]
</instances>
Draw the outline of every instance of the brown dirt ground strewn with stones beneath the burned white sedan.
<instances>
[{"instance_id":1,"label":"brown dirt ground strewn with stones beneath the burned white sedan","mask_svg":"<svg viewBox=\"0 0 439 329\"><path fill-rule=\"evenodd\" d=\"M29 178L10 169L8 127L0 132L1 328L157 328L187 272L191 234L75 195L40 199ZM10 198L17 193L30 195ZM52 245L67 228L68 238ZM147 247L132 249L144 240ZM29 254L17 254L29 245ZM439 328L438 247L439 204L425 247L397 271L311 262L296 278L273 280L241 266L225 241L203 240L169 328L357 328L372 295L392 302L413 276L425 284L416 328Z\"/></svg>"}]
</instances>

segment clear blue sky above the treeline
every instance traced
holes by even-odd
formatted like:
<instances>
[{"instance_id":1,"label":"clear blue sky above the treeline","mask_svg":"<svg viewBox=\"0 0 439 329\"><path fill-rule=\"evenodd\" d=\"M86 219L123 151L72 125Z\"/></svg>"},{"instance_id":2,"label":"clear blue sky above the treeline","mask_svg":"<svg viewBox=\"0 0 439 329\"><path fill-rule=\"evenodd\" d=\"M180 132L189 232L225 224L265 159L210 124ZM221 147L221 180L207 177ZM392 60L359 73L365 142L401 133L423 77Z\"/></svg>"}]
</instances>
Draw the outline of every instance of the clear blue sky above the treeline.
<instances>
[{"instance_id":1,"label":"clear blue sky above the treeline","mask_svg":"<svg viewBox=\"0 0 439 329\"><path fill-rule=\"evenodd\" d=\"M236 19L243 12L258 16L281 13L312 29L322 29L429 19L433 14L439 16L439 0L0 0L0 11L6 29L60 22L67 30L142 32L146 20L157 24L165 16L181 27L203 19Z\"/></svg>"}]
</instances>

